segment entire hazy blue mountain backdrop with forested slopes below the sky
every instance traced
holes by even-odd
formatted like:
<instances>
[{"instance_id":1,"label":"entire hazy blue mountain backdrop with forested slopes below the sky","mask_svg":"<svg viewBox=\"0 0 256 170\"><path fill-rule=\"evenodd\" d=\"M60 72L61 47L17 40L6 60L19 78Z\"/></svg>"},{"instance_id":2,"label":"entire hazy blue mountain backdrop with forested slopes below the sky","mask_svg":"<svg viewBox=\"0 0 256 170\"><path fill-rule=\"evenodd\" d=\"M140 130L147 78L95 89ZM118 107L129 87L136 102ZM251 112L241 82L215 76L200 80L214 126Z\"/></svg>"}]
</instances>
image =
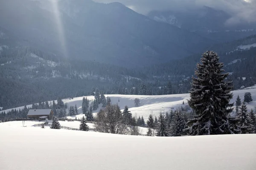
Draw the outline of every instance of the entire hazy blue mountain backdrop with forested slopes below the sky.
<instances>
[{"instance_id":1,"label":"entire hazy blue mountain backdrop with forested slopes below the sky","mask_svg":"<svg viewBox=\"0 0 256 170\"><path fill-rule=\"evenodd\" d=\"M143 15L125 5L0 1L0 107L89 95L92 88L138 94L142 81L147 94L164 94L159 87L168 81L173 93L186 93L186 77L208 49L232 63L227 71L233 79L255 77L250 71L255 49L238 50L255 43L247 37L256 34L253 22L227 26L234 15L208 6ZM240 63L250 65L243 69Z\"/></svg>"}]
</instances>

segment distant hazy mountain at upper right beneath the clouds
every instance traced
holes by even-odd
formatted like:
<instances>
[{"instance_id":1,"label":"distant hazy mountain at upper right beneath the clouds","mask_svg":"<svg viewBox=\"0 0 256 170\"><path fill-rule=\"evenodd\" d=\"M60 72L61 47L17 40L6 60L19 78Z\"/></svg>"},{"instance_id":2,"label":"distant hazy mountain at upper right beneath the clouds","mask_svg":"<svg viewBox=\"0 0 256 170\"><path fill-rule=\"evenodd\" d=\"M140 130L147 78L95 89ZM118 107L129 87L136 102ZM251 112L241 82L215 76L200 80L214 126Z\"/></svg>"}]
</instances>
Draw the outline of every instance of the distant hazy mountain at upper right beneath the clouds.
<instances>
[{"instance_id":1,"label":"distant hazy mountain at upper right beneath the clouds","mask_svg":"<svg viewBox=\"0 0 256 170\"><path fill-rule=\"evenodd\" d=\"M231 18L229 13L208 6L185 11L151 11L148 17L161 23L168 23L195 32L219 43L256 34L255 23L227 24L227 20Z\"/></svg>"}]
</instances>

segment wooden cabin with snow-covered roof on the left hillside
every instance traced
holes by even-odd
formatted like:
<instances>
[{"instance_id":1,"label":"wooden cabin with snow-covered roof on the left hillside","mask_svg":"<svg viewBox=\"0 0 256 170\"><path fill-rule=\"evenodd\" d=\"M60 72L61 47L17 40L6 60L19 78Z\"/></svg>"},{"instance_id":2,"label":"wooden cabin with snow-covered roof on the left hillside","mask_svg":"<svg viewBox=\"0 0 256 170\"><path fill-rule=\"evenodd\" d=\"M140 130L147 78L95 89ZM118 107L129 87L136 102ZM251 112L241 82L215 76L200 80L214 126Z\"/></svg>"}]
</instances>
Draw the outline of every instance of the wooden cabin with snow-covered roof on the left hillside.
<instances>
[{"instance_id":1,"label":"wooden cabin with snow-covered roof on the left hillside","mask_svg":"<svg viewBox=\"0 0 256 170\"><path fill-rule=\"evenodd\" d=\"M51 120L53 116L53 111L52 109L29 109L29 113L27 116L28 118L32 119L41 119L40 117L47 116L47 119Z\"/></svg>"}]
</instances>

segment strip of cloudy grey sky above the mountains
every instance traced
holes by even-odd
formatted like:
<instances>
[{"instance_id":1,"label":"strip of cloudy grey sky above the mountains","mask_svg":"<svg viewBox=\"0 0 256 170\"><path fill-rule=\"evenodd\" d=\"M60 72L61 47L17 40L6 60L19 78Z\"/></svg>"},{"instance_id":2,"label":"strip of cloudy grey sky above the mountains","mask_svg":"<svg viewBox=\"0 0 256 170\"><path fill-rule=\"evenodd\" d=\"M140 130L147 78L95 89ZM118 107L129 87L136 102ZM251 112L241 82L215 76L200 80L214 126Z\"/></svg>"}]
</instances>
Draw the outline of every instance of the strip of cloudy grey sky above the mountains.
<instances>
[{"instance_id":1,"label":"strip of cloudy grey sky above the mountains","mask_svg":"<svg viewBox=\"0 0 256 170\"><path fill-rule=\"evenodd\" d=\"M256 0L94 0L99 3L119 2L140 14L166 10L189 10L209 6L231 14L227 23L256 22Z\"/></svg>"}]
</instances>

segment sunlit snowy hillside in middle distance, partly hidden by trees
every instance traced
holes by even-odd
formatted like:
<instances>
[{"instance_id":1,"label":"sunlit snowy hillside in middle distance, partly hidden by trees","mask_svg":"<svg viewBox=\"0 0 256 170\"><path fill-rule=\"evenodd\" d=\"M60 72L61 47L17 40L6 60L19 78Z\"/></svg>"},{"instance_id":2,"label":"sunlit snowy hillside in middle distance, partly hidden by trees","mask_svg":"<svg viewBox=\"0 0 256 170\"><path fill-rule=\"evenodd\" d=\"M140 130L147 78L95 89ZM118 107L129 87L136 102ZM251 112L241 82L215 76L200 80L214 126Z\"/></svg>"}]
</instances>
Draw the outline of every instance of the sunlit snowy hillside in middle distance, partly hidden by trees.
<instances>
[{"instance_id":1,"label":"sunlit snowy hillside in middle distance, partly hidden by trees","mask_svg":"<svg viewBox=\"0 0 256 170\"><path fill-rule=\"evenodd\" d=\"M253 102L250 102L247 104L248 111L250 109L254 109L256 107L256 85L242 89L242 90L237 90L233 91L233 99L231 102L236 101L236 97L239 95L241 100L243 101L244 99L244 93L245 92L250 92L252 94ZM176 108L183 106L183 107L188 107L187 100L190 98L189 94L172 94L172 95L161 95L161 96L142 96L142 95L121 95L121 94L110 94L110 95L105 95L106 97L109 96L111 98L112 104L118 104L121 109L125 107L125 105L128 106L129 110L133 114L133 116L137 115L138 116L143 116L144 119L148 119L149 114L153 114L154 116L158 116L160 112L166 112L175 110ZM139 98L140 99L140 106L135 107L134 104L134 99ZM63 99L64 103L67 103L68 108L70 106L75 106L77 105L79 113L81 113L81 105L82 105L82 99L83 97L76 97L74 99ZM87 96L87 99L93 100L94 96ZM119 100L119 102L118 102ZM184 101L185 105L182 105L182 102ZM56 101L57 102L57 101ZM27 107L31 107L32 105L27 105ZM99 105L99 108L101 108L102 105ZM23 108L19 107L19 108ZM16 108L16 109L19 109ZM11 109L6 110L10 111ZM94 115L99 111L93 111ZM67 111L68 113L68 111ZM70 119L81 119L83 115L77 115L77 116L67 116L67 118Z\"/></svg>"}]
</instances>

